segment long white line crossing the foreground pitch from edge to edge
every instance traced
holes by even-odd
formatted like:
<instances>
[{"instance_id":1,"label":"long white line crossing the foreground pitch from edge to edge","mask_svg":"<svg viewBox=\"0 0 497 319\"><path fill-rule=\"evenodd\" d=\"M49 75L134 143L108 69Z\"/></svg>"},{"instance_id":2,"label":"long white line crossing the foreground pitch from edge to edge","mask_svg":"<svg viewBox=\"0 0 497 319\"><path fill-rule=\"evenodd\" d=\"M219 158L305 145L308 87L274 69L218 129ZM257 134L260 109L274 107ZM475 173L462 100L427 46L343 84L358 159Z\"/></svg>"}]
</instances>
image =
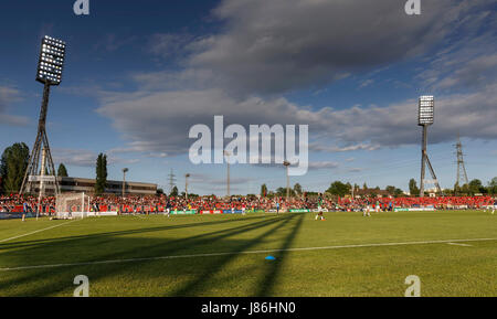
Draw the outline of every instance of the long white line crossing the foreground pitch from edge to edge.
<instances>
[{"instance_id":1,"label":"long white line crossing the foreground pitch from edge to edge","mask_svg":"<svg viewBox=\"0 0 497 319\"><path fill-rule=\"evenodd\" d=\"M497 241L497 238L469 238L469 240L450 240L450 241L380 243L380 244L359 244L359 245L341 245L341 246L325 246L325 247L303 247L303 248L287 248L287 249L265 249L265 251L247 251L247 252L226 252L226 253L210 253L210 254L194 254L194 255L159 256L159 257L113 259L113 260L84 262L84 263L71 263L71 264L52 264L52 265L22 266L22 267L11 267L11 268L0 268L0 272L39 269L39 268L55 268L55 267L70 267L70 266L86 266L86 265L102 265L102 264L136 263L136 262L150 262L150 260L177 259L177 258L213 257L213 256L242 255L242 254L243 255L247 255L247 254L267 254L267 253L278 253L278 252L300 252L300 251L360 248L360 247L382 247L382 246L402 246L402 245L426 245L426 244L447 244L447 243L457 243L457 242L488 242L488 241Z\"/></svg>"}]
</instances>

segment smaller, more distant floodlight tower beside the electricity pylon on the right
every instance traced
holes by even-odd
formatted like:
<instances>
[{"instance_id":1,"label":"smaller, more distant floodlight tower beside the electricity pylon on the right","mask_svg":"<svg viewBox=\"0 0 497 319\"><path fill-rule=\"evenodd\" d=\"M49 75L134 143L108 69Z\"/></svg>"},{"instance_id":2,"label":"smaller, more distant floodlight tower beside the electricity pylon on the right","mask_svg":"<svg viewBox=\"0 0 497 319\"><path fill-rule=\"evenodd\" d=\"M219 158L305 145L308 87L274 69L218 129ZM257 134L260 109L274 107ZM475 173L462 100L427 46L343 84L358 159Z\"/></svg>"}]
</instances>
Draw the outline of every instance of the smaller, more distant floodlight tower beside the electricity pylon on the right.
<instances>
[{"instance_id":1,"label":"smaller, more distant floodlight tower beside the electricity pylon on the right","mask_svg":"<svg viewBox=\"0 0 497 319\"><path fill-rule=\"evenodd\" d=\"M419 116L417 116L417 125L423 127L423 141L421 148L421 187L420 187L420 198L424 196L424 183L425 183L425 171L426 164L430 169L430 172L433 178L433 183L435 184L438 193L442 194L442 189L440 188L438 181L435 176L435 171L433 170L432 163L430 162L430 158L427 156L427 127L434 123L434 114L435 114L435 99L433 96L421 96L419 103Z\"/></svg>"}]
</instances>

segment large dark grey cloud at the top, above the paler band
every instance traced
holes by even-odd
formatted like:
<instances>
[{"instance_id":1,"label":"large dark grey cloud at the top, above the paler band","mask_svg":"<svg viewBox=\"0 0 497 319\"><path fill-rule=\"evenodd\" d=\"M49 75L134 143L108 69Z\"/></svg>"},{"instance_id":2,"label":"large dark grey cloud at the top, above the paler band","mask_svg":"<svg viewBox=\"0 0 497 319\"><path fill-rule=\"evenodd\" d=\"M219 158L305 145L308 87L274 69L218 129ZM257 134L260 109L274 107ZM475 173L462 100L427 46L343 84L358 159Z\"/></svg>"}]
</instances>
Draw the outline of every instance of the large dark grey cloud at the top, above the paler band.
<instances>
[{"instance_id":1,"label":"large dark grey cloud at the top, above the paler band","mask_svg":"<svg viewBox=\"0 0 497 319\"><path fill-rule=\"evenodd\" d=\"M425 53L482 2L425 1L409 17L399 0L225 0L213 15L226 28L193 41L188 65L230 93L322 86Z\"/></svg>"}]
</instances>

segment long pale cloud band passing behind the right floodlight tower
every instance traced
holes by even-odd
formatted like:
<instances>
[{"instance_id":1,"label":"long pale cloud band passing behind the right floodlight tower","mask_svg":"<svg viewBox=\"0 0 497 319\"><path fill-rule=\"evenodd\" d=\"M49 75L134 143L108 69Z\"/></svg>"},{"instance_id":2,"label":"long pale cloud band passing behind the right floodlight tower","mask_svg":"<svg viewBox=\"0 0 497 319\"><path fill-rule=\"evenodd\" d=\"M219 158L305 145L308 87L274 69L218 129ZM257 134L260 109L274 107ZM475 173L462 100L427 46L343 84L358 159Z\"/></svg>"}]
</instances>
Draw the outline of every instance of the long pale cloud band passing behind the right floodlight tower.
<instances>
[{"instance_id":1,"label":"long pale cloud band passing behind the right floodlight tower","mask_svg":"<svg viewBox=\"0 0 497 319\"><path fill-rule=\"evenodd\" d=\"M435 125L431 142L451 141L459 131L468 138L497 138L497 84L485 91L436 97ZM187 152L193 140L190 127L212 127L214 115L223 115L225 126L241 124L304 124L318 141L313 151L345 152L376 150L417 143L417 105L415 99L387 106L322 108L310 110L285 98L236 100L219 89L160 92L131 98L116 96L98 111L131 142L124 150L178 155ZM326 142L322 140L327 139Z\"/></svg>"}]
</instances>

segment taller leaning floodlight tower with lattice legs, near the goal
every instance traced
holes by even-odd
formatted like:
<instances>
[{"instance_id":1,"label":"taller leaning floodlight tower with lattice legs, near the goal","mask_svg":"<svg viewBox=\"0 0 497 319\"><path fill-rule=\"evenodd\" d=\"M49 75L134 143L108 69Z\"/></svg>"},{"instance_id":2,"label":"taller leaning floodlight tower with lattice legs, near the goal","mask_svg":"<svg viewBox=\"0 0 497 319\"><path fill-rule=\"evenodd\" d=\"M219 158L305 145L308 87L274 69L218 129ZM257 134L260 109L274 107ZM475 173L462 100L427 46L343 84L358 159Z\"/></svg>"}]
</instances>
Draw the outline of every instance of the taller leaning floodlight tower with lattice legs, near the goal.
<instances>
[{"instance_id":1,"label":"taller leaning floodlight tower with lattice legs, near the goal","mask_svg":"<svg viewBox=\"0 0 497 319\"><path fill-rule=\"evenodd\" d=\"M45 35L42 39L40 57L36 70L36 81L44 85L43 99L40 111L40 119L38 121L38 134L34 140L33 149L31 150L30 160L25 170L24 179L22 180L21 194L30 193L34 190L36 182L51 181L54 183L55 194L59 193L59 181L55 178L55 167L53 164L52 153L49 147L49 138L46 136L46 113L49 109L50 87L57 86L62 81L62 70L64 68L65 60L65 42ZM44 149L46 157L42 167L40 163L40 153ZM49 177L44 177L44 172ZM40 172L43 172L40 173ZM41 184L40 184L41 188Z\"/></svg>"}]
</instances>

